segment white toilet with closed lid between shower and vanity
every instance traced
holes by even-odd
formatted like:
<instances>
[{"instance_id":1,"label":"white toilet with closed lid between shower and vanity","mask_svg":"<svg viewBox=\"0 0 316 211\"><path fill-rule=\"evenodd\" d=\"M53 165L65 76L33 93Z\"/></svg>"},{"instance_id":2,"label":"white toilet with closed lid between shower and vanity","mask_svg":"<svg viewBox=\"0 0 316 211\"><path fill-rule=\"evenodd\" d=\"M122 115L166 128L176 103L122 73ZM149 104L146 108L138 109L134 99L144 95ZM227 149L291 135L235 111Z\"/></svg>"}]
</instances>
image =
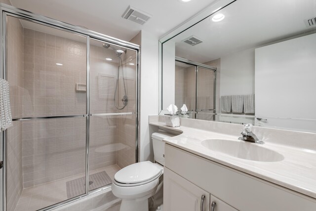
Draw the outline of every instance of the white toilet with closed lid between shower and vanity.
<instances>
[{"instance_id":1,"label":"white toilet with closed lid between shower and vanity","mask_svg":"<svg viewBox=\"0 0 316 211\"><path fill-rule=\"evenodd\" d=\"M119 211L148 211L148 198L152 197L162 181L164 142L163 138L174 136L166 132L152 134L155 162L144 161L120 169L114 175L113 194L122 199ZM159 185L160 184L160 185ZM159 186L159 187L158 187Z\"/></svg>"}]
</instances>

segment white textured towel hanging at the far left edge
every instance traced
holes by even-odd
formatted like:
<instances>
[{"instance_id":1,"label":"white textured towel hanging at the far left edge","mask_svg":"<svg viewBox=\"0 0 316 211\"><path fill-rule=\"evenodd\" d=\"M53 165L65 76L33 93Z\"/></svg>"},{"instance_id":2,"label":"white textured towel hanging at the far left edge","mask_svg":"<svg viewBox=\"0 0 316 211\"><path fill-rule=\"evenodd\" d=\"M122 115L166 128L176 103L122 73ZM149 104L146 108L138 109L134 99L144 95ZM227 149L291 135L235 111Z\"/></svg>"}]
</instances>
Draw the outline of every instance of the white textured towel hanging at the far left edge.
<instances>
[{"instance_id":1,"label":"white textured towel hanging at the far left edge","mask_svg":"<svg viewBox=\"0 0 316 211\"><path fill-rule=\"evenodd\" d=\"M12 115L9 98L9 83L0 79L0 129L12 126Z\"/></svg>"}]
</instances>

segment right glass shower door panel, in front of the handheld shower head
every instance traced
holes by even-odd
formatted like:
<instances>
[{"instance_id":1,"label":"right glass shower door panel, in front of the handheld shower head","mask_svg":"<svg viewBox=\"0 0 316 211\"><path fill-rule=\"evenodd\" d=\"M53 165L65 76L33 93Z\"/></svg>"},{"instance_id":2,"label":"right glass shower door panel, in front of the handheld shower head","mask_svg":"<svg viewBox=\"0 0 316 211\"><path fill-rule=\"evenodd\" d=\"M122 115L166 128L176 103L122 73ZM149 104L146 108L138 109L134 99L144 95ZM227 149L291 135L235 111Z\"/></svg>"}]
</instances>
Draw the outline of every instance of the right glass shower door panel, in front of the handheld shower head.
<instances>
[{"instance_id":1,"label":"right glass shower door panel, in front of the handheld shower head","mask_svg":"<svg viewBox=\"0 0 316 211\"><path fill-rule=\"evenodd\" d=\"M90 39L89 191L136 162L136 51Z\"/></svg>"}]
</instances>

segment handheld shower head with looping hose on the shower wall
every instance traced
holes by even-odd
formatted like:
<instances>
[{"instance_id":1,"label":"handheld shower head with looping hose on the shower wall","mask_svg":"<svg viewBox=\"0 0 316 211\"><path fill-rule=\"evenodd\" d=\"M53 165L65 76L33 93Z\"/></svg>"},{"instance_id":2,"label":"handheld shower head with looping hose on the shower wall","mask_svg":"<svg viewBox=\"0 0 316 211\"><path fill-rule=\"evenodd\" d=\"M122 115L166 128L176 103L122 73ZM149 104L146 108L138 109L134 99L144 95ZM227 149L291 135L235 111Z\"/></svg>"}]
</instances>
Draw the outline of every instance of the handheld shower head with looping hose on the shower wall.
<instances>
[{"instance_id":1,"label":"handheld shower head with looping hose on the shower wall","mask_svg":"<svg viewBox=\"0 0 316 211\"><path fill-rule=\"evenodd\" d=\"M118 92L118 82L119 82L119 72L120 72L120 69L121 69L121 72L122 72L122 76L124 78L124 68L123 68L123 62L122 62L122 58L121 58L121 55L122 53L125 53L126 54L126 49L125 50L120 50L120 49L116 49L114 46L110 45L110 44L106 44L104 43L102 45L104 48L109 48L111 50L114 50L117 57L118 57L118 70L117 70L117 80L116 80L116 85L115 85L115 91L114 91L114 105L115 107L118 109L118 110L122 110L124 109L127 104L128 104L128 96L127 96L127 90L126 90L126 83L125 81L123 80L123 97L121 99L121 101L123 102L123 106L122 107L119 107L117 105L117 92Z\"/></svg>"}]
</instances>

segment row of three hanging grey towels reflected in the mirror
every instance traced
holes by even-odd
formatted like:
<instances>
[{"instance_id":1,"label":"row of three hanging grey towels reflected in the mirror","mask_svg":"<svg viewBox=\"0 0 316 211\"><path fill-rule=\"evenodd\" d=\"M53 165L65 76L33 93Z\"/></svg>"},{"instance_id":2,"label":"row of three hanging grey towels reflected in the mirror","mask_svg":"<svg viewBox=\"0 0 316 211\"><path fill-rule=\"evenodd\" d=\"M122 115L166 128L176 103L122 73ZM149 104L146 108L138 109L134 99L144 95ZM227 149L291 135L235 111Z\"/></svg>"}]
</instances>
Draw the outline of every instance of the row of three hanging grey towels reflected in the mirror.
<instances>
[{"instance_id":1,"label":"row of three hanging grey towels reflected in the mirror","mask_svg":"<svg viewBox=\"0 0 316 211\"><path fill-rule=\"evenodd\" d=\"M254 114L255 113L255 95L227 95L221 96L221 111Z\"/></svg>"}]
</instances>

